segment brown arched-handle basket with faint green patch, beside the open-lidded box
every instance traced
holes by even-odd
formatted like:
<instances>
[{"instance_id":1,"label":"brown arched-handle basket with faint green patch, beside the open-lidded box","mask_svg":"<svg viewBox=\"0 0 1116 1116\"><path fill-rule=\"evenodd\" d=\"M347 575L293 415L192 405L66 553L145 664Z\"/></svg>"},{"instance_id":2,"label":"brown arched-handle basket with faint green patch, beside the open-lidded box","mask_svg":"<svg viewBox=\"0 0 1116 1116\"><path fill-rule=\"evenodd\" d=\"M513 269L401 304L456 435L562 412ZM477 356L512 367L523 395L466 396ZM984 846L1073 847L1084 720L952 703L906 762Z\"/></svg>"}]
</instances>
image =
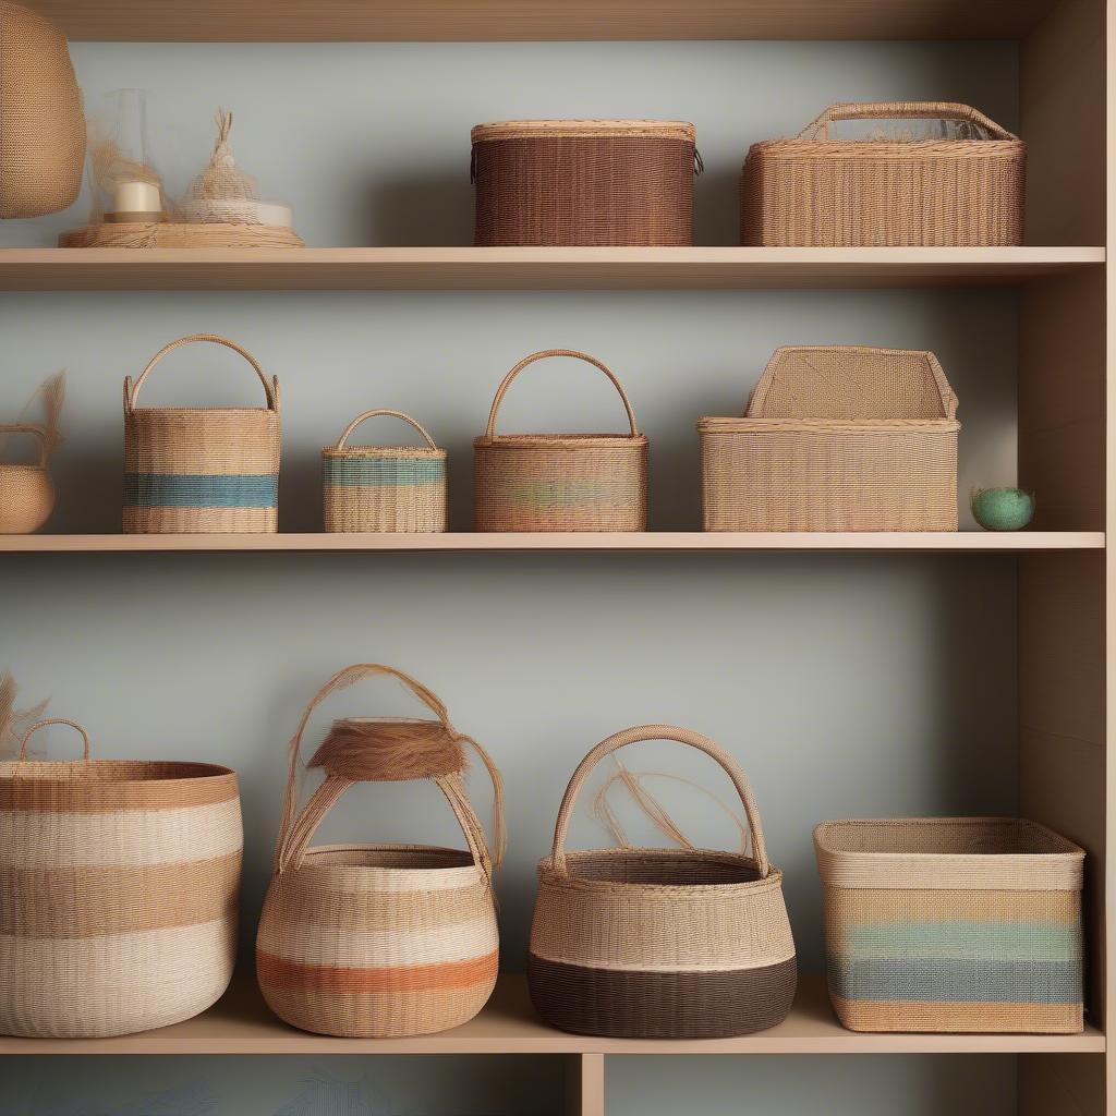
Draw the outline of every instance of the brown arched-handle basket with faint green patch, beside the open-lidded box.
<instances>
[{"instance_id":1,"label":"brown arched-handle basket with faint green patch, beside the open-lidded box","mask_svg":"<svg viewBox=\"0 0 1116 1116\"><path fill-rule=\"evenodd\" d=\"M627 413L629 434L497 434L511 382L529 364L573 356L599 368ZM647 439L620 382L596 357L545 349L503 378L483 437L473 442L478 531L643 531L647 526Z\"/></svg>"}]
</instances>

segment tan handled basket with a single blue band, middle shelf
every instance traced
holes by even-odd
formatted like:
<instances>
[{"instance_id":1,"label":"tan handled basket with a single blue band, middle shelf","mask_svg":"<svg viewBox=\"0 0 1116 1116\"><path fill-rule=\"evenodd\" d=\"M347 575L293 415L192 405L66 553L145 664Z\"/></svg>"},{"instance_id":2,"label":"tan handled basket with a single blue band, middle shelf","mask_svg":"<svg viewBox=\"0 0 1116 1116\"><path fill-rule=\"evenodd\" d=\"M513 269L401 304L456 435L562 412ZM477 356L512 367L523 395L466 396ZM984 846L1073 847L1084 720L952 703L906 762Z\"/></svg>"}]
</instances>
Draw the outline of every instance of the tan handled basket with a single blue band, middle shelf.
<instances>
[{"instance_id":1,"label":"tan handled basket with a single blue band, middle shelf","mask_svg":"<svg viewBox=\"0 0 1116 1116\"><path fill-rule=\"evenodd\" d=\"M214 341L256 371L267 407L137 407L167 353ZM124 381L125 532L260 533L279 528L279 381L246 349L213 334L160 349L133 385Z\"/></svg>"}]
</instances>

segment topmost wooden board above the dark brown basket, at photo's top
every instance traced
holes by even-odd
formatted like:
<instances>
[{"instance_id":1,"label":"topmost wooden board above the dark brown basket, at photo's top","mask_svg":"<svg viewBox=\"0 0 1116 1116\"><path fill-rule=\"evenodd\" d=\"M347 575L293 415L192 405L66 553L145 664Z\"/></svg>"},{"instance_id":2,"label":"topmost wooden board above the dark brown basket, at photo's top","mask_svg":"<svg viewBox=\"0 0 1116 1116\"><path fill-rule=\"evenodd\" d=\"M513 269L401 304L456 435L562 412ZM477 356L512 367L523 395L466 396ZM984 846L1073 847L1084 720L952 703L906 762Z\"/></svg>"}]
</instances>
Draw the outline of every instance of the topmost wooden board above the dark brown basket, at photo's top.
<instances>
[{"instance_id":1,"label":"topmost wooden board above the dark brown basket, at photo's top","mask_svg":"<svg viewBox=\"0 0 1116 1116\"><path fill-rule=\"evenodd\" d=\"M1055 0L23 0L71 39L1019 38Z\"/></svg>"}]
</instances>

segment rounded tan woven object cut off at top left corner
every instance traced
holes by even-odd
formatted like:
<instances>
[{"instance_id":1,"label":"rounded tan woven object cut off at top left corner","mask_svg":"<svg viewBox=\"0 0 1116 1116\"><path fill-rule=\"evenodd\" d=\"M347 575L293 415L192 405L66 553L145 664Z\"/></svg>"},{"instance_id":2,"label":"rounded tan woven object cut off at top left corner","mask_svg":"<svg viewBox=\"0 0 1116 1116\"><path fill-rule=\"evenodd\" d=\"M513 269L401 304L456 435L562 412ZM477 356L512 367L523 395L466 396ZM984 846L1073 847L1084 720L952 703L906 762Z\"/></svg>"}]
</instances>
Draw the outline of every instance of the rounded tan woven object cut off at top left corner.
<instances>
[{"instance_id":1,"label":"rounded tan woven object cut off at top left corner","mask_svg":"<svg viewBox=\"0 0 1116 1116\"><path fill-rule=\"evenodd\" d=\"M0 0L0 219L73 205L84 161L81 90L65 37Z\"/></svg>"}]
</instances>

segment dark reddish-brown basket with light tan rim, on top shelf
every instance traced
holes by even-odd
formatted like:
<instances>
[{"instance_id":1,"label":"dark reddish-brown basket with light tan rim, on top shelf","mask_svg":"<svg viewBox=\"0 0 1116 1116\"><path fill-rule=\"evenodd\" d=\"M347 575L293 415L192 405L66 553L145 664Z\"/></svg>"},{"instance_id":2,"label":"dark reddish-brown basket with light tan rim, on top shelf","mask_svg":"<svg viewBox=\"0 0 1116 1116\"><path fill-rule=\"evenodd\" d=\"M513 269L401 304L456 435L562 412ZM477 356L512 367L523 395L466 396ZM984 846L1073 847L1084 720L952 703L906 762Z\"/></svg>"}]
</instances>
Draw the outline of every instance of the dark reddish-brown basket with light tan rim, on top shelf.
<instances>
[{"instance_id":1,"label":"dark reddish-brown basket with light tan rim, on top shelf","mask_svg":"<svg viewBox=\"0 0 1116 1116\"><path fill-rule=\"evenodd\" d=\"M502 121L472 131L477 237L493 246L689 246L692 124Z\"/></svg>"}]
</instances>

